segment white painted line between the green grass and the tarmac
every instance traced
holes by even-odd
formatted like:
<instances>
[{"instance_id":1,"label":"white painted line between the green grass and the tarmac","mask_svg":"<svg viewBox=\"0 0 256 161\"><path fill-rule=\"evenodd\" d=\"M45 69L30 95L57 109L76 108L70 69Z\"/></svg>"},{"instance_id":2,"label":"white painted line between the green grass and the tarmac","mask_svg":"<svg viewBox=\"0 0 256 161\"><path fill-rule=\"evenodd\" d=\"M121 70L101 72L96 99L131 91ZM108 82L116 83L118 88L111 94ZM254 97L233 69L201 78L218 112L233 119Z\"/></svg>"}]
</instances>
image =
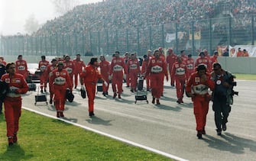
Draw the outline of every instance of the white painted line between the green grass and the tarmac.
<instances>
[{"instance_id":1,"label":"white painted line between the green grass and the tarmac","mask_svg":"<svg viewBox=\"0 0 256 161\"><path fill-rule=\"evenodd\" d=\"M139 144L139 143L134 143L133 141L125 140L125 139L123 139L123 138L121 138L121 137L115 137L115 136L113 136L113 135L111 135L111 134L107 134L107 133L104 133L104 132L102 132L102 131L92 129L92 128L90 128L90 127L86 127L86 126L83 126L83 125L81 125L81 124L76 124L76 123L73 123L73 122L71 122L71 121L66 121L66 120L64 120L64 119L62 119L62 118L56 118L56 117L54 117L54 116L52 116L52 115L50 115L50 114L44 114L43 112L35 111L35 110L32 110L31 108L25 108L25 107L22 107L22 108L25 109L25 110L27 110L27 111L32 111L32 112L34 112L34 113L44 115L44 116L46 116L46 117L48 117L48 118L58 119L58 120L60 120L60 121L66 122L66 123L68 123L68 124L73 124L73 125L75 125L76 127L82 127L83 129L90 130L90 131L92 131L92 132L94 132L94 133L101 134L101 135L104 135L104 136L106 136L106 137L111 137L112 139L119 140L119 141L122 141L122 142L124 142L124 143L131 144L131 145L133 145L133 146L135 146L135 147L141 147L141 148L143 148L143 149L145 149L145 150L149 150L149 151L151 151L151 152L158 153L158 154L160 154L160 155L162 155L162 156L167 156L168 158L171 158L171 159L177 159L177 160L180 160L180 161L187 161L187 159L183 159L183 158L180 158L180 157L178 157L178 156L173 156L173 155L171 155L170 153L165 153L165 152L162 152L162 151L160 151L160 150L156 150L156 149L154 149L154 148L141 145L141 144Z\"/></svg>"}]
</instances>

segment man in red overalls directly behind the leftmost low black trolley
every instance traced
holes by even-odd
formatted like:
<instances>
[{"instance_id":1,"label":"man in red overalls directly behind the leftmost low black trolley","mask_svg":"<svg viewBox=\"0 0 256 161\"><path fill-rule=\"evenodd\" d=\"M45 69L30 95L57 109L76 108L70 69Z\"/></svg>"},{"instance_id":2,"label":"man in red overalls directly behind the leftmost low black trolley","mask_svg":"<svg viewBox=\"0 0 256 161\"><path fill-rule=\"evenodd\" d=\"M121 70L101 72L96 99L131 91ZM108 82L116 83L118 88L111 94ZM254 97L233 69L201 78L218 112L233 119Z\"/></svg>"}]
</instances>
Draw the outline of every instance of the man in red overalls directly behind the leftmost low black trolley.
<instances>
[{"instance_id":1,"label":"man in red overalls directly behind the leftmost low black trolley","mask_svg":"<svg viewBox=\"0 0 256 161\"><path fill-rule=\"evenodd\" d=\"M49 62L45 60L45 56L41 56L41 61L38 63L38 69L40 69L41 75L40 75L40 87L41 92L46 92L47 88L47 79L45 79L44 71L47 69L47 66L49 65Z\"/></svg>"}]
</instances>

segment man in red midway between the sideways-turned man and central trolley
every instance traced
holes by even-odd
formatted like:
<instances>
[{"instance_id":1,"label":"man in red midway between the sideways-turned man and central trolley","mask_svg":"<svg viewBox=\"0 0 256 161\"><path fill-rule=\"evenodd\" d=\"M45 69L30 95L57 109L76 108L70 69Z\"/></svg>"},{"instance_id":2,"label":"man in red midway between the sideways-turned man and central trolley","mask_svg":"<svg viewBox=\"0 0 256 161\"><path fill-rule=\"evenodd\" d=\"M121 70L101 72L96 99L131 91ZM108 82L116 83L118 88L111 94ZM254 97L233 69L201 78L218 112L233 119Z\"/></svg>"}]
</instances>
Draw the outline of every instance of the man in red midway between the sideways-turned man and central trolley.
<instances>
[{"instance_id":1,"label":"man in red midway between the sideways-turned man and central trolley","mask_svg":"<svg viewBox=\"0 0 256 161\"><path fill-rule=\"evenodd\" d=\"M112 59L109 76L112 77L112 89L114 92L113 98L116 98L118 92L118 98L121 98L122 94L122 80L123 76L127 74L127 69L125 66L125 61L120 57L119 51L115 52L115 56ZM118 91L116 90L116 85L118 87Z\"/></svg>"}]
</instances>

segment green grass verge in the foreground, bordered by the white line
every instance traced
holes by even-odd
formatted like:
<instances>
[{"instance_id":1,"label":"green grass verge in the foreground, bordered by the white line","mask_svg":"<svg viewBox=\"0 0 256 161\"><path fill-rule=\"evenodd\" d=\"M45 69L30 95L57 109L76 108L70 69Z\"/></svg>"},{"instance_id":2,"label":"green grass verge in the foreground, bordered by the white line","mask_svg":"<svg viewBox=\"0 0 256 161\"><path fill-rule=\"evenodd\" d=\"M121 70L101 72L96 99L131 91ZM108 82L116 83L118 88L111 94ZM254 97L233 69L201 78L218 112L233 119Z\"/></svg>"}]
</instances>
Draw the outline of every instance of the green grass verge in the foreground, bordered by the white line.
<instances>
[{"instance_id":1,"label":"green grass verge in the foreground, bordered by the white line","mask_svg":"<svg viewBox=\"0 0 256 161\"><path fill-rule=\"evenodd\" d=\"M18 143L8 147L0 115L0 160L170 160L80 127L22 111Z\"/></svg>"}]
</instances>

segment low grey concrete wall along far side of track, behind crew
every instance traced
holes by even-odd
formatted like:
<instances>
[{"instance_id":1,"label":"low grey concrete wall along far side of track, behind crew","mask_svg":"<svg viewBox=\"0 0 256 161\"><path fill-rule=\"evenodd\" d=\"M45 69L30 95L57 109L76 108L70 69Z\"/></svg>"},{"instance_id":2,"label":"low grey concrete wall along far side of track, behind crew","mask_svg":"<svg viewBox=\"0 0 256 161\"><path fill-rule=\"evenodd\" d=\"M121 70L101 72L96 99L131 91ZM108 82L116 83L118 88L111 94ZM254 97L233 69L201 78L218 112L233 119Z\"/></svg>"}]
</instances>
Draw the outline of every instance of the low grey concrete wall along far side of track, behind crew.
<instances>
[{"instance_id":1,"label":"low grey concrete wall along far side of track, behind crew","mask_svg":"<svg viewBox=\"0 0 256 161\"><path fill-rule=\"evenodd\" d=\"M47 60L52 60L55 56L47 56ZM75 56L71 56L74 59ZM85 63L89 63L90 56L81 56ZM106 57L111 61L112 56ZM194 57L195 59L195 57ZM15 62L17 56L5 56L6 62ZM28 63L38 63L41 60L41 56L24 56L24 60ZM222 68L234 73L256 74L256 57L219 57L219 63L222 64Z\"/></svg>"}]
</instances>

